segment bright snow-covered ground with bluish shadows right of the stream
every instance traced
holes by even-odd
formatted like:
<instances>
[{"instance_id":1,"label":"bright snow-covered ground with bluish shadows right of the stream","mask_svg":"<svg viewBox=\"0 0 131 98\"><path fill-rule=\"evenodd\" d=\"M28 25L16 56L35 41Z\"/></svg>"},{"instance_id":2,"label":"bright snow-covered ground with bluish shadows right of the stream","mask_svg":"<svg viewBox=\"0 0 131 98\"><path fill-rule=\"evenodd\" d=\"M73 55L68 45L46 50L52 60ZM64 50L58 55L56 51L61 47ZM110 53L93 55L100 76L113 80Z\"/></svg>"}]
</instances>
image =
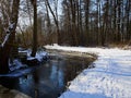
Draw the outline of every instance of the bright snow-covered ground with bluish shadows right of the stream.
<instances>
[{"instance_id":1,"label":"bright snow-covered ground with bluish shadows right of the stream","mask_svg":"<svg viewBox=\"0 0 131 98\"><path fill-rule=\"evenodd\" d=\"M60 98L131 98L131 51L45 46L47 49L97 53L94 69L84 70Z\"/></svg>"}]
</instances>

